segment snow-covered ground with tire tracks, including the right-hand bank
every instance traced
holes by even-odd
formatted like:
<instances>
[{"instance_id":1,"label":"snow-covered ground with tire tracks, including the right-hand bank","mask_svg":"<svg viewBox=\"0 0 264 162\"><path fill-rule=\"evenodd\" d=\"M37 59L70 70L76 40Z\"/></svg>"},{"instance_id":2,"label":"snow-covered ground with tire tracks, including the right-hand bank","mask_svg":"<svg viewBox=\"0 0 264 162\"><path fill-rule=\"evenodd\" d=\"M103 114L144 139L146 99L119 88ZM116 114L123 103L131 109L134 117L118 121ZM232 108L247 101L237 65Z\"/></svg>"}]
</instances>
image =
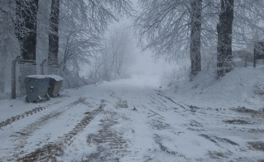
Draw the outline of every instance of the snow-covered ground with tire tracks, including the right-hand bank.
<instances>
[{"instance_id":1,"label":"snow-covered ground with tire tracks, including the right-hand bank","mask_svg":"<svg viewBox=\"0 0 264 162\"><path fill-rule=\"evenodd\" d=\"M44 103L2 100L0 161L264 161L264 69L213 76L176 89L134 76Z\"/></svg>"}]
</instances>

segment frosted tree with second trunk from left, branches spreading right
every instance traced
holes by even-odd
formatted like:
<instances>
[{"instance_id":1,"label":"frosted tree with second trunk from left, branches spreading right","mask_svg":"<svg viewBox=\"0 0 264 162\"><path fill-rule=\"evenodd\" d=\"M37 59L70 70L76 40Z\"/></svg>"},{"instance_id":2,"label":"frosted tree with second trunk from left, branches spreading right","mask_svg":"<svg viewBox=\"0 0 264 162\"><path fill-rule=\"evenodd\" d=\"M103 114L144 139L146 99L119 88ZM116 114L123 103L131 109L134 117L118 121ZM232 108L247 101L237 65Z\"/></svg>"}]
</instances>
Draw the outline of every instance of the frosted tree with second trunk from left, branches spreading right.
<instances>
[{"instance_id":1,"label":"frosted tree with second trunk from left, branches spreading right","mask_svg":"<svg viewBox=\"0 0 264 162\"><path fill-rule=\"evenodd\" d=\"M80 68L76 66L89 63L93 51L100 48L108 24L133 11L131 2L122 0L50 0L39 4L37 50L43 56L38 58L48 57L58 61L63 70L69 67L75 72Z\"/></svg>"}]
</instances>

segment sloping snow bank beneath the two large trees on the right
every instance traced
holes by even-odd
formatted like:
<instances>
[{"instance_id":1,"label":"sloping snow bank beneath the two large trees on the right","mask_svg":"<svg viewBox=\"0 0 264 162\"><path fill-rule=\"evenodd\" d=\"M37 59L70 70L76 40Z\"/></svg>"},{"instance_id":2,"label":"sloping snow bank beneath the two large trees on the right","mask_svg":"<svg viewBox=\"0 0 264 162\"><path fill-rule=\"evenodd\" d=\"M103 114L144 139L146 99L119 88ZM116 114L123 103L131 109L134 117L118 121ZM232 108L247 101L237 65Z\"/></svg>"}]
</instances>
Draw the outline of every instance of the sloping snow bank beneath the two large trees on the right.
<instances>
[{"instance_id":1,"label":"sloping snow bank beneath the two large trees on the right","mask_svg":"<svg viewBox=\"0 0 264 162\"><path fill-rule=\"evenodd\" d=\"M214 70L200 72L191 82L188 78L173 87L176 94L189 100L225 102L230 106L263 107L264 68L235 68L220 79ZM177 96L178 96L177 95Z\"/></svg>"}]
</instances>

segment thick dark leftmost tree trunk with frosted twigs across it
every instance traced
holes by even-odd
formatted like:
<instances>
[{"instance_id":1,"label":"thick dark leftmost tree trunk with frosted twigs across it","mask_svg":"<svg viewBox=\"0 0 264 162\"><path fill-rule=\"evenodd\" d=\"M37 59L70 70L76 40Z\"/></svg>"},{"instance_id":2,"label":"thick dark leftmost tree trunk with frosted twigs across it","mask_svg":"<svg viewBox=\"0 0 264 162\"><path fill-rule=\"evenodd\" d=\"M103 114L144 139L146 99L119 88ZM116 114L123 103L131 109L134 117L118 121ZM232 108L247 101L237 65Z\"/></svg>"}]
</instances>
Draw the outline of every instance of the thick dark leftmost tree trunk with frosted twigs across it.
<instances>
[{"instance_id":1,"label":"thick dark leftmost tree trunk with frosted twigs across it","mask_svg":"<svg viewBox=\"0 0 264 162\"><path fill-rule=\"evenodd\" d=\"M36 60L38 0L16 0L16 35L25 60Z\"/></svg>"}]
</instances>

